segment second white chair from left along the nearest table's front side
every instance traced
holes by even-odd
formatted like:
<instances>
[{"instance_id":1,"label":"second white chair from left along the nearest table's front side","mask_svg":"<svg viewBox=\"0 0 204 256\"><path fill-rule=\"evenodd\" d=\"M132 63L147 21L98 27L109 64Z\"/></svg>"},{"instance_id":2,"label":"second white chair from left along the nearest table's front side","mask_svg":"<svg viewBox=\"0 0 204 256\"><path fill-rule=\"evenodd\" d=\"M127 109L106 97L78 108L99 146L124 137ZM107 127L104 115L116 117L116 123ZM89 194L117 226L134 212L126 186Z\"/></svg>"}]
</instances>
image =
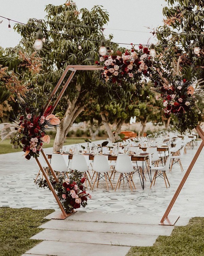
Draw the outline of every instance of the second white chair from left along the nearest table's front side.
<instances>
[{"instance_id":1,"label":"second white chair from left along the nearest table's front side","mask_svg":"<svg viewBox=\"0 0 204 256\"><path fill-rule=\"evenodd\" d=\"M89 174L89 177L91 177L91 176L89 173L87 161L83 155L73 155L72 156L70 170L78 170L79 172L83 172L84 176L86 177L86 179L89 183L89 186L91 188L91 183L89 181L87 173ZM85 181L85 184L86 184L86 181Z\"/></svg>"}]
</instances>

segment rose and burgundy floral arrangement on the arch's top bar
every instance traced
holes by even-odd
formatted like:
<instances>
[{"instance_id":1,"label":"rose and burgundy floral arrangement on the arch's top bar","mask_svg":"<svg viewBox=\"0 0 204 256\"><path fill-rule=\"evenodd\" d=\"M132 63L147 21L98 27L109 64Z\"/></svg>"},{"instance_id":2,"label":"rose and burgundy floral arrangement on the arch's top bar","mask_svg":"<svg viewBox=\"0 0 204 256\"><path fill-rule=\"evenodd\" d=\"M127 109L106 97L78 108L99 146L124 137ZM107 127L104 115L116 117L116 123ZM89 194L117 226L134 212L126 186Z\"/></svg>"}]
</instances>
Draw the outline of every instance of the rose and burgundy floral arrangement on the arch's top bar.
<instances>
[{"instance_id":1,"label":"rose and burgundy floral arrangement on the arch's top bar","mask_svg":"<svg viewBox=\"0 0 204 256\"><path fill-rule=\"evenodd\" d=\"M143 45L139 49L131 44L131 50L126 49L124 53L120 51L111 52L101 56L95 63L104 66L100 73L100 79L104 83L122 84L125 82L140 82L142 77L149 77L152 67L152 57L150 50Z\"/></svg>"}]
</instances>

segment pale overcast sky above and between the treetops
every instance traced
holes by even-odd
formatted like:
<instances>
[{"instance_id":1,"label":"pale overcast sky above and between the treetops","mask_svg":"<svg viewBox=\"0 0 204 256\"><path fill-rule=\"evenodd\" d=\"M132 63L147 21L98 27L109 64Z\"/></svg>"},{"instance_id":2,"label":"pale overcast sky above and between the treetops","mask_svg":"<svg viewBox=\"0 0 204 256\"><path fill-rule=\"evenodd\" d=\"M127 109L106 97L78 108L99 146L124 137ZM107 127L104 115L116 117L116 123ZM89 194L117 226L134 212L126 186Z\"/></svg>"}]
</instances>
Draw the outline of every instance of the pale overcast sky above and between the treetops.
<instances>
[{"instance_id":1,"label":"pale overcast sky above and between the treetops","mask_svg":"<svg viewBox=\"0 0 204 256\"><path fill-rule=\"evenodd\" d=\"M29 18L44 18L45 5L60 5L65 0L0 0L0 15L27 23ZM112 33L114 42L145 44L150 38L150 43L155 42L150 28L156 28L163 24L162 8L165 0L75 0L78 9L91 9L94 5L103 5L109 13L109 23L105 26L104 34ZM14 47L18 44L18 33L8 31L8 20L0 17L0 46ZM11 27L14 22L11 22ZM116 30L115 30L116 29ZM131 32L134 30L142 32ZM121 45L122 46L122 45ZM124 45L123 45L124 46Z\"/></svg>"}]
</instances>

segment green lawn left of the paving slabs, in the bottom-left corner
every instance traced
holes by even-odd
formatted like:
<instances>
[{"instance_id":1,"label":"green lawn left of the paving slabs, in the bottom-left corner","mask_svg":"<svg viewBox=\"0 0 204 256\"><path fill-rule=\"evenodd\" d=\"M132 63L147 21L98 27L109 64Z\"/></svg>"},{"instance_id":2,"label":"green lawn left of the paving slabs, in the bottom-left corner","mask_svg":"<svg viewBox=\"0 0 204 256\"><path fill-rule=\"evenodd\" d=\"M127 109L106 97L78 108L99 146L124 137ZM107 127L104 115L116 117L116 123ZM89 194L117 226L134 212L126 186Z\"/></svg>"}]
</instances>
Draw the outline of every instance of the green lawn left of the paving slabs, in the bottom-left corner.
<instances>
[{"instance_id":1,"label":"green lawn left of the paving slabs, in the bottom-left corner","mask_svg":"<svg viewBox=\"0 0 204 256\"><path fill-rule=\"evenodd\" d=\"M30 239L42 231L37 228L54 210L13 209L0 207L0 256L20 256L41 240Z\"/></svg>"}]
</instances>

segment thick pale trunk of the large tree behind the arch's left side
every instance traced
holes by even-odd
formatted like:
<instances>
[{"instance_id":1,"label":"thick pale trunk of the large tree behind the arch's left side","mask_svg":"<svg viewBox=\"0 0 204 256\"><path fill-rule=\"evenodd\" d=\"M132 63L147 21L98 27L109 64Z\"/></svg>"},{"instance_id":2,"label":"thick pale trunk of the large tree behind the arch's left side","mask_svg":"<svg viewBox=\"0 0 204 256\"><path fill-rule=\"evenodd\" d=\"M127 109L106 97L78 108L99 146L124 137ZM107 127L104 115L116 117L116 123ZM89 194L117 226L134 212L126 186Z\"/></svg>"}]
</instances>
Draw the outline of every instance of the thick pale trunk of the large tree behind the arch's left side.
<instances>
[{"instance_id":1,"label":"thick pale trunk of the large tree behind the arch's left side","mask_svg":"<svg viewBox=\"0 0 204 256\"><path fill-rule=\"evenodd\" d=\"M80 93L81 86L77 85L78 92ZM69 132L74 120L78 117L78 115L84 110L84 104L82 101L78 104L77 101L79 99L78 96L72 101L68 101L67 111L61 120L60 126L57 127L56 136L54 139L53 152L56 150L60 150L62 148L64 141L66 139L67 133Z\"/></svg>"}]
</instances>

